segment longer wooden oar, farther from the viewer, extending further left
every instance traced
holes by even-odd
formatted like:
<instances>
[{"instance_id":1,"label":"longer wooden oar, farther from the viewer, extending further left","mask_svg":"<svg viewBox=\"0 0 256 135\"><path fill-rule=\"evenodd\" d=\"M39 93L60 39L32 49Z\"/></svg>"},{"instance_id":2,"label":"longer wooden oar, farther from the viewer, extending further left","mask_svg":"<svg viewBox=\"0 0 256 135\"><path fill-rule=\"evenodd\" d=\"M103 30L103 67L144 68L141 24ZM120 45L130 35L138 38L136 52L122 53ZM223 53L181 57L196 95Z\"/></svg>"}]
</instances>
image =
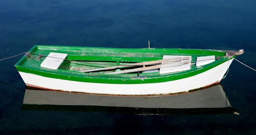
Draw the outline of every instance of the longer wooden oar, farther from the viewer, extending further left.
<instances>
[{"instance_id":1,"label":"longer wooden oar, farther from the viewer, extending further left","mask_svg":"<svg viewBox=\"0 0 256 135\"><path fill-rule=\"evenodd\" d=\"M132 63L127 65L120 65L120 66L111 66L106 68L83 70L78 72L93 72L93 71L116 69L116 68L128 67L128 66L144 66L144 65L150 65L150 64L167 63L167 62L174 62L174 61L181 61L181 60L189 60L189 57L177 57L177 58L170 58L170 59L163 59L163 60L153 60L153 61L146 61L146 62L140 62L140 63Z\"/></svg>"}]
</instances>

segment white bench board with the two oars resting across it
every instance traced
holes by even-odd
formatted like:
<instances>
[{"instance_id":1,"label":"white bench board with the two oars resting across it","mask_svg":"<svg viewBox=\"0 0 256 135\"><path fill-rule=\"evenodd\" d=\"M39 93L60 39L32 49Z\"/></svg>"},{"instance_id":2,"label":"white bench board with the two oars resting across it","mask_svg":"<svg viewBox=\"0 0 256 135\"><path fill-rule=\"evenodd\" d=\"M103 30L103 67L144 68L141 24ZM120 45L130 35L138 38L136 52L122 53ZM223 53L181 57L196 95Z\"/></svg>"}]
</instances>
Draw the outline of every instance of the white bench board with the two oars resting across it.
<instances>
[{"instance_id":1,"label":"white bench board with the two oars resting across it","mask_svg":"<svg viewBox=\"0 0 256 135\"><path fill-rule=\"evenodd\" d=\"M191 56L177 56L177 55L163 55L163 60L164 59L170 59L170 58L176 58L176 57L189 57L189 60L191 61ZM185 62L185 61L189 61L189 60L182 60L182 61ZM172 62L169 62L169 63L172 63ZM164 74L164 73L185 71L185 70L189 70L190 67L191 67L191 62L188 63L188 64L184 64L182 66L160 68L159 73Z\"/></svg>"}]
</instances>

